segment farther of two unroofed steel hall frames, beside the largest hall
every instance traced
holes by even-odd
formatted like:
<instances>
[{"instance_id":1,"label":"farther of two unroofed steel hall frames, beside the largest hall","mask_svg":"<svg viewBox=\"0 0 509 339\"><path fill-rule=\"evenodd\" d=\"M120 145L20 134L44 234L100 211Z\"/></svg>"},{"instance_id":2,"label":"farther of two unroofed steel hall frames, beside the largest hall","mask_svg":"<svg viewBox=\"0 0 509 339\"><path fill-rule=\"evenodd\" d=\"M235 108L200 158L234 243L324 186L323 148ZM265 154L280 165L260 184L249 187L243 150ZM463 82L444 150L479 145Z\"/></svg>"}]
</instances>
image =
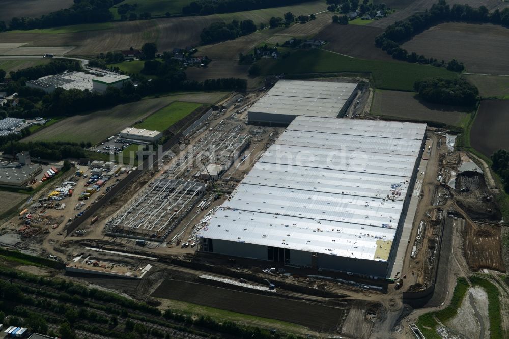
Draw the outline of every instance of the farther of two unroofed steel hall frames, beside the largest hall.
<instances>
[{"instance_id":1,"label":"farther of two unroofed steel hall frames, beside the largest hall","mask_svg":"<svg viewBox=\"0 0 509 339\"><path fill-rule=\"evenodd\" d=\"M204 171L205 165L218 164L222 172L228 170L233 162L250 145L250 138L239 135L240 131L231 133L209 132L197 140L188 151L175 159L161 174L164 179L178 179L186 176L194 168Z\"/></svg>"}]
</instances>

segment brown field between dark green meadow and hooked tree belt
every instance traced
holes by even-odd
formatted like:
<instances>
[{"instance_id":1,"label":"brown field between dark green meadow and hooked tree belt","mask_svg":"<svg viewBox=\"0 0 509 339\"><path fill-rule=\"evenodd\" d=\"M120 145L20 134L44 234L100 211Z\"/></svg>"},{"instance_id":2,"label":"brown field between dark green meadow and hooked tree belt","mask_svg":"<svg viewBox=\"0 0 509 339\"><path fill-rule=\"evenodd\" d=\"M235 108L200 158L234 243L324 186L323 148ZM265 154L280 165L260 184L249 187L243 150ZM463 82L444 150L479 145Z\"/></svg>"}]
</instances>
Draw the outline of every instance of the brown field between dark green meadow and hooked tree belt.
<instances>
[{"instance_id":1,"label":"brown field between dark green meadow and hooked tree belt","mask_svg":"<svg viewBox=\"0 0 509 339\"><path fill-rule=\"evenodd\" d=\"M392 56L375 47L375 37L382 33L383 30L377 27L330 23L316 38L327 41L323 48L332 52L355 58L394 60Z\"/></svg>"}]
</instances>

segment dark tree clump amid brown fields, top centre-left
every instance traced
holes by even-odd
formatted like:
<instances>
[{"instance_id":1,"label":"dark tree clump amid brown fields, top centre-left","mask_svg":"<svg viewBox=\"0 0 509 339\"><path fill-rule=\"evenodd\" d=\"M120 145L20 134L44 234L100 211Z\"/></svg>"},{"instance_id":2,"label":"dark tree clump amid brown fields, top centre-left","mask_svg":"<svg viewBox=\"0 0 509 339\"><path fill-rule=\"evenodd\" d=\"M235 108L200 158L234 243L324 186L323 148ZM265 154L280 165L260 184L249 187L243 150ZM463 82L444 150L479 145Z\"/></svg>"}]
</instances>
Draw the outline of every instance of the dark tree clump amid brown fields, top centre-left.
<instances>
[{"instance_id":1,"label":"dark tree clump amid brown fields, top centre-left","mask_svg":"<svg viewBox=\"0 0 509 339\"><path fill-rule=\"evenodd\" d=\"M231 23L214 22L202 30L200 39L202 44L211 44L218 41L234 40L237 37L248 35L257 30L253 20L232 20Z\"/></svg>"}]
</instances>

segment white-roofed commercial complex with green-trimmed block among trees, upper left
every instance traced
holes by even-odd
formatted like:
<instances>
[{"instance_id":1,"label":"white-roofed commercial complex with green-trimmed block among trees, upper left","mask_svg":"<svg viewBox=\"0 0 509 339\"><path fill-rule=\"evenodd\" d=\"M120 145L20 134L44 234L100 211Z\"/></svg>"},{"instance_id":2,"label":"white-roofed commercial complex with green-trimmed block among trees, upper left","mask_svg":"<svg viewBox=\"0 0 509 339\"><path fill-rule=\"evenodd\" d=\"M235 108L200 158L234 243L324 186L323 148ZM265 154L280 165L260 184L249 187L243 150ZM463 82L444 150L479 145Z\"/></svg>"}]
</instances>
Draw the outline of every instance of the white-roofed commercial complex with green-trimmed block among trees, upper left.
<instances>
[{"instance_id":1,"label":"white-roofed commercial complex with green-trimmed block among trees, upper left","mask_svg":"<svg viewBox=\"0 0 509 339\"><path fill-rule=\"evenodd\" d=\"M97 76L95 74L72 71L26 81L26 86L43 90L46 93L51 93L59 87L64 90L78 89L104 92L108 86L122 87L123 83L130 81L130 79L129 76L121 74Z\"/></svg>"}]
</instances>

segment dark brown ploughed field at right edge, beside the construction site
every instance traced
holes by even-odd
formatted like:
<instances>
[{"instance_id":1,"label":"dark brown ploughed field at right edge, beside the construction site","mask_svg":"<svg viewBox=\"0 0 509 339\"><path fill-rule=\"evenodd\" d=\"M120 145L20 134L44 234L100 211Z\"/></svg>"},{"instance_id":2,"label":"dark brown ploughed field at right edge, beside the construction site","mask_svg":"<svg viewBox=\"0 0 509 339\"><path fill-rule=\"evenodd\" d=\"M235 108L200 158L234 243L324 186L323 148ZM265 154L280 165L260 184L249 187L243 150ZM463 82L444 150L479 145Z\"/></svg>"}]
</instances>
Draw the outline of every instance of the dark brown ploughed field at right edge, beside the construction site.
<instances>
[{"instance_id":1,"label":"dark brown ploughed field at right edge, beside the construction site","mask_svg":"<svg viewBox=\"0 0 509 339\"><path fill-rule=\"evenodd\" d=\"M470 130L470 145L490 157L500 148L509 149L509 100L483 100Z\"/></svg>"}]
</instances>

